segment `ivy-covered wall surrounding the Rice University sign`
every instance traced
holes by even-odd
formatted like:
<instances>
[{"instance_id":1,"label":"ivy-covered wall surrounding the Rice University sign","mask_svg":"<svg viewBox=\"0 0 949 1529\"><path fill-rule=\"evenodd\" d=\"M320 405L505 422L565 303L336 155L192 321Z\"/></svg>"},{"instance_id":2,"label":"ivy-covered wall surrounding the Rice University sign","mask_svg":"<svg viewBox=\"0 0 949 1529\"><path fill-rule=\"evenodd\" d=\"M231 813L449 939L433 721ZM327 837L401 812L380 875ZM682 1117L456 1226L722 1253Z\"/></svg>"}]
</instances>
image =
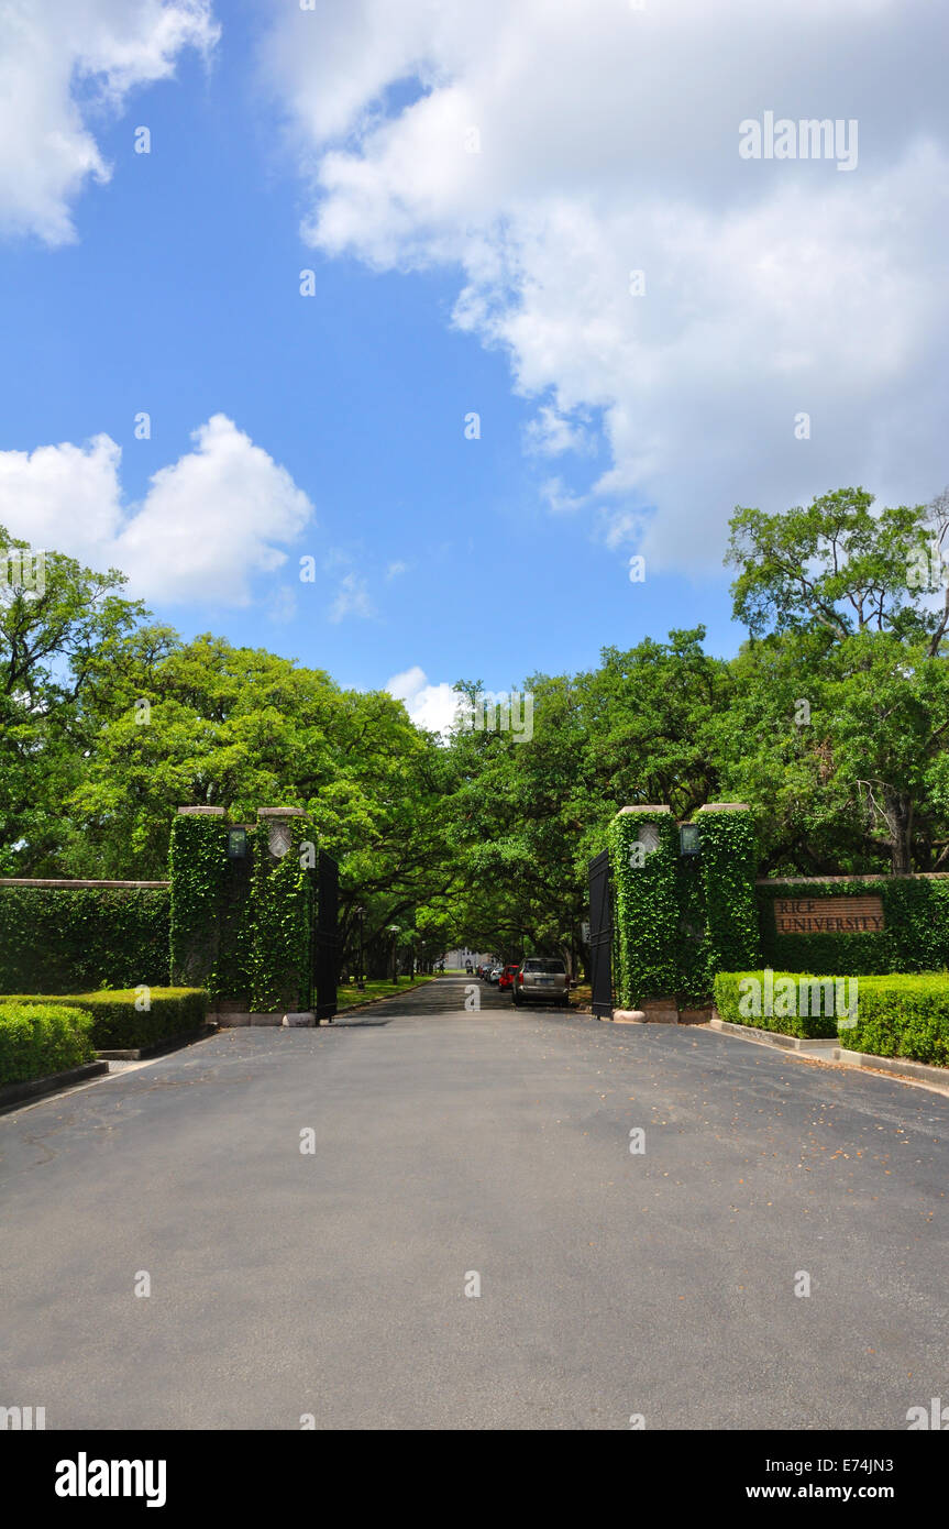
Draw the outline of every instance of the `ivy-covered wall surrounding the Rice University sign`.
<instances>
[{"instance_id":1,"label":"ivy-covered wall surrounding the Rice University sign","mask_svg":"<svg viewBox=\"0 0 949 1529\"><path fill-rule=\"evenodd\" d=\"M769 966L784 971L836 971L842 976L934 972L949 966L949 878L811 878L799 882L760 882L755 891L761 950ZM778 898L880 898L885 928L870 934L776 934Z\"/></svg>"}]
</instances>

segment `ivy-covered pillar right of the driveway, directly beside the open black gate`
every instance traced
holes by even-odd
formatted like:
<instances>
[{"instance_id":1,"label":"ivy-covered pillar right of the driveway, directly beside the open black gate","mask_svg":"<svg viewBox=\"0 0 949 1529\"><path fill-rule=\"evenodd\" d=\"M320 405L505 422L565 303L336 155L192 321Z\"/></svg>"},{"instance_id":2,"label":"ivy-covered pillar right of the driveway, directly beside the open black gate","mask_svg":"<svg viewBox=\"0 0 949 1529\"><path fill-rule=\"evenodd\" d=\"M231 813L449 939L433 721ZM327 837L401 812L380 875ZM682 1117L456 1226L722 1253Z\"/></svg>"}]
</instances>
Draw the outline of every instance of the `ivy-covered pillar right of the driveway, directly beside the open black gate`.
<instances>
[{"instance_id":1,"label":"ivy-covered pillar right of the driveway, directly beside the open black gate","mask_svg":"<svg viewBox=\"0 0 949 1529\"><path fill-rule=\"evenodd\" d=\"M665 806L620 807L608 830L617 1009L674 1003L679 829Z\"/></svg>"}]
</instances>

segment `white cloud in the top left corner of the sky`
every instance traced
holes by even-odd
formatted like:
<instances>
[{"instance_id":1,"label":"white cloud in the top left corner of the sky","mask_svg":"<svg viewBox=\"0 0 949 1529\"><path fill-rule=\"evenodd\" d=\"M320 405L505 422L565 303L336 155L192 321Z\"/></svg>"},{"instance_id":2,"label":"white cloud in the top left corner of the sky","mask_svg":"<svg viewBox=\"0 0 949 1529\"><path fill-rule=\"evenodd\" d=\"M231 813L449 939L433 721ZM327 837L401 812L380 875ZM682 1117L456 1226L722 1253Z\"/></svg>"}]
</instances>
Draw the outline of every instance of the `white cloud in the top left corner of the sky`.
<instances>
[{"instance_id":1,"label":"white cloud in the top left corner of the sky","mask_svg":"<svg viewBox=\"0 0 949 1529\"><path fill-rule=\"evenodd\" d=\"M5 0L0 6L0 231L70 240L70 202L104 182L90 124L219 37L211 0ZM131 130L128 135L131 153Z\"/></svg>"}]
</instances>

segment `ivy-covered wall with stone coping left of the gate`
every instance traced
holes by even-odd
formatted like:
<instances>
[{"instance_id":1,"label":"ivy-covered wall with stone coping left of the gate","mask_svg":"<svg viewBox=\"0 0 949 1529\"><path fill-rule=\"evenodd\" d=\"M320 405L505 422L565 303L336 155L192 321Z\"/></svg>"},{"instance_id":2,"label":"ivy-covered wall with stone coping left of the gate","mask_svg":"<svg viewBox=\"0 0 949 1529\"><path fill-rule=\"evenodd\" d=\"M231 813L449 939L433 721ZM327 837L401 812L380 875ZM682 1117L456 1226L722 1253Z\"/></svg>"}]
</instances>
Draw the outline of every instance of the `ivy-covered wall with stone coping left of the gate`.
<instances>
[{"instance_id":1,"label":"ivy-covered wall with stone coping left of the gate","mask_svg":"<svg viewBox=\"0 0 949 1529\"><path fill-rule=\"evenodd\" d=\"M168 982L164 887L0 887L0 992Z\"/></svg>"}]
</instances>

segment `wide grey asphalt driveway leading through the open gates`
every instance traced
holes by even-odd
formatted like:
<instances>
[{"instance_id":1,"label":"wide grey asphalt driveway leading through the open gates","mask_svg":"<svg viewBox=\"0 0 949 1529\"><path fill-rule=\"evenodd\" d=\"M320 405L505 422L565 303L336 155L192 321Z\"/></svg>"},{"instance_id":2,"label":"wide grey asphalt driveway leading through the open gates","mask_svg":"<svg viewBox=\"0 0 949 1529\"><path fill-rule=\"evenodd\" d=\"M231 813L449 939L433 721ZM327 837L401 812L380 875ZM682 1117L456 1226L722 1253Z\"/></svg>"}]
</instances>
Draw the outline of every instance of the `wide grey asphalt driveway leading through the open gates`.
<instances>
[{"instance_id":1,"label":"wide grey asphalt driveway leading through the open gates","mask_svg":"<svg viewBox=\"0 0 949 1529\"><path fill-rule=\"evenodd\" d=\"M2 1116L0 1402L47 1430L905 1430L949 1401L949 1098L478 991Z\"/></svg>"}]
</instances>

